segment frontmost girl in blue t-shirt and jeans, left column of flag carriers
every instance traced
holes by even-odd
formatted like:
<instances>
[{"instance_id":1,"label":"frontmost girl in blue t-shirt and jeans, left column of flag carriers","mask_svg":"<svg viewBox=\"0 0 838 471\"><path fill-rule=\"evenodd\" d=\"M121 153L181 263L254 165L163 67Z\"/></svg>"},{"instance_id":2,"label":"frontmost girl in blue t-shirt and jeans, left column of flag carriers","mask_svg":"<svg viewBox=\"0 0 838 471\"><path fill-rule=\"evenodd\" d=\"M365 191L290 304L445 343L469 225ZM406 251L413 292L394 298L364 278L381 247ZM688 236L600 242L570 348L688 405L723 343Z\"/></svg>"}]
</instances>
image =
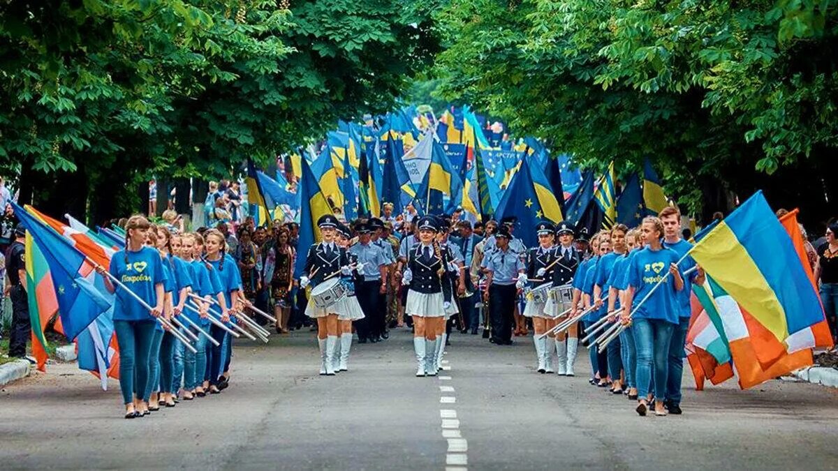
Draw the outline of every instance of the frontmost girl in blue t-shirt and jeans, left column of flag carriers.
<instances>
[{"instance_id":1,"label":"frontmost girl in blue t-shirt and jeans, left column of flag carriers","mask_svg":"<svg viewBox=\"0 0 838 471\"><path fill-rule=\"evenodd\" d=\"M119 344L119 386L125 418L147 414L148 397L133 397L133 394L135 389L145 391L148 384L148 354L157 324L155 318L163 315L163 262L157 250L145 246L150 228L151 223L142 215L128 219L126 248L111 257L108 272L151 306L151 311L122 287L114 287L109 278L104 278L107 290L116 292L113 324ZM103 272L104 268L97 267L97 270Z\"/></svg>"}]
</instances>

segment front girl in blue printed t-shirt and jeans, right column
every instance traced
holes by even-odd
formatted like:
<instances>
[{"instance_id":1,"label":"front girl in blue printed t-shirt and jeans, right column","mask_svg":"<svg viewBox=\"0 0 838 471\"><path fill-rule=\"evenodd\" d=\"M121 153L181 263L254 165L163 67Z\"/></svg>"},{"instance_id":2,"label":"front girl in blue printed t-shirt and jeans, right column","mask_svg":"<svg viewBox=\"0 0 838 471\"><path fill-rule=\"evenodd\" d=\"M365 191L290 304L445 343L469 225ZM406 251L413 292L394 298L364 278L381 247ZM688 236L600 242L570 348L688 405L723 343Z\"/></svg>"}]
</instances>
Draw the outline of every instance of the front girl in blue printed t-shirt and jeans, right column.
<instances>
[{"instance_id":1,"label":"front girl in blue printed t-shirt and jeans, right column","mask_svg":"<svg viewBox=\"0 0 838 471\"><path fill-rule=\"evenodd\" d=\"M653 369L654 396L663 398L666 395L667 355L672 331L678 323L675 293L684 288L684 279L677 265L678 254L660 242L664 236L664 225L660 219L645 218L640 230L646 247L637 252L629 263L626 309L621 317L623 323L631 322L634 330L634 346L637 349L635 380L639 401L636 410L644 416L648 401L652 399L649 382ZM663 401L655 401L654 414L666 415Z\"/></svg>"}]
</instances>

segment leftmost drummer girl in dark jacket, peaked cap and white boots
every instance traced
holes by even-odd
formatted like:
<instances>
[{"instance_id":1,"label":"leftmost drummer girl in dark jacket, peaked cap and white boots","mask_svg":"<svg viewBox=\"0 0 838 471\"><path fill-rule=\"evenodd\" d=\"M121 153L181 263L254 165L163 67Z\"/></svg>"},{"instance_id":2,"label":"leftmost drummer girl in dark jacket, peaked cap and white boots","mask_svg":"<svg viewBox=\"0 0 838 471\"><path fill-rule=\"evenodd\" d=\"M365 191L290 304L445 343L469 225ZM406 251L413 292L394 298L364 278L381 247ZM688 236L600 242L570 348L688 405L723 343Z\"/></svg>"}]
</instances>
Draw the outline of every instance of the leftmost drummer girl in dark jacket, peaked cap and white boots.
<instances>
[{"instance_id":1,"label":"leftmost drummer girl in dark jacket, peaked cap and white boots","mask_svg":"<svg viewBox=\"0 0 838 471\"><path fill-rule=\"evenodd\" d=\"M327 277L341 272L349 275L349 257L346 250L335 244L335 230L339 225L338 218L334 215L322 215L317 221L322 241L308 247L306 256L306 267L303 270L303 277L300 277L300 287L305 289L309 284L317 287ZM308 300L306 315L317 319L318 345L320 347L320 374L334 375L334 352L338 344L338 304L332 304L328 308L318 308L313 299Z\"/></svg>"}]
</instances>

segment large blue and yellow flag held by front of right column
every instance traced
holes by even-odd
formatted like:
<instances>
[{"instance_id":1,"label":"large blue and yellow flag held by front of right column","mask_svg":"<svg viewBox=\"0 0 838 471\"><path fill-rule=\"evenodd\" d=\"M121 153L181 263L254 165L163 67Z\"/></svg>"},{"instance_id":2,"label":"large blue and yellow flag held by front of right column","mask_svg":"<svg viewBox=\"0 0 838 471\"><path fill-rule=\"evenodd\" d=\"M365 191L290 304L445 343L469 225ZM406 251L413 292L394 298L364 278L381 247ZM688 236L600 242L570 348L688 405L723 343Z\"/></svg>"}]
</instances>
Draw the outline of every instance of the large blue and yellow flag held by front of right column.
<instances>
[{"instance_id":1,"label":"large blue and yellow flag held by front of right column","mask_svg":"<svg viewBox=\"0 0 838 471\"><path fill-rule=\"evenodd\" d=\"M762 191L716 225L689 253L742 310L780 342L824 318L818 292L794 242Z\"/></svg>"}]
</instances>

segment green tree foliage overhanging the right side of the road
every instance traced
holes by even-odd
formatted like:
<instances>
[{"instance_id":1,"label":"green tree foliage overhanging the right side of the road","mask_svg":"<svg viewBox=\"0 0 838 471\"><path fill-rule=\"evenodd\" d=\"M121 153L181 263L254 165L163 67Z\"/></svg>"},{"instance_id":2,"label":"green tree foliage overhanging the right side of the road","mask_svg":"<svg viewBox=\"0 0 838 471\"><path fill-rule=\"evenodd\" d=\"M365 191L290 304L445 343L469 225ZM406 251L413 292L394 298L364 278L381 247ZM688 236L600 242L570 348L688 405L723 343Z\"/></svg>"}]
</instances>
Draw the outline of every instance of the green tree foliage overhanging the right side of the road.
<instances>
[{"instance_id":1,"label":"green tree foliage overhanging the right side of the road","mask_svg":"<svg viewBox=\"0 0 838 471\"><path fill-rule=\"evenodd\" d=\"M652 158L670 193L716 210L724 190L779 187L770 175L834 158L831 3L453 0L436 71L447 98L587 166ZM821 183L809 175L822 201Z\"/></svg>"}]
</instances>

